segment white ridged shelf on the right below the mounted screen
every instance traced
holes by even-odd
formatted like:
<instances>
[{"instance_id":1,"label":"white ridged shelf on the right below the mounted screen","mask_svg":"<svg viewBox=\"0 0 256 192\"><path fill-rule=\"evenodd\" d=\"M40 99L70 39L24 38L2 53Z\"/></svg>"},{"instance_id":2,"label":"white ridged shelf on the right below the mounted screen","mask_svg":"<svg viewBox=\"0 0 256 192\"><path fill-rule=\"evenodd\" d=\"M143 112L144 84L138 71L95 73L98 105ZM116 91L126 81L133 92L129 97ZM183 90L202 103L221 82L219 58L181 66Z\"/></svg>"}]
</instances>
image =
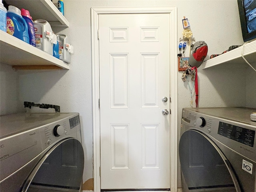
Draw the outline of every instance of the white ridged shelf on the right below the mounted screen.
<instances>
[{"instance_id":1,"label":"white ridged shelf on the right below the mounted screen","mask_svg":"<svg viewBox=\"0 0 256 192\"><path fill-rule=\"evenodd\" d=\"M240 46L226 52L224 54L220 54L212 59L206 60L202 63L202 69L210 68L216 65L222 66L234 66L234 67L241 67L246 68L248 64L242 58L241 50L243 49L244 58L250 64L256 64L256 40L245 44L244 46Z\"/></svg>"}]
</instances>

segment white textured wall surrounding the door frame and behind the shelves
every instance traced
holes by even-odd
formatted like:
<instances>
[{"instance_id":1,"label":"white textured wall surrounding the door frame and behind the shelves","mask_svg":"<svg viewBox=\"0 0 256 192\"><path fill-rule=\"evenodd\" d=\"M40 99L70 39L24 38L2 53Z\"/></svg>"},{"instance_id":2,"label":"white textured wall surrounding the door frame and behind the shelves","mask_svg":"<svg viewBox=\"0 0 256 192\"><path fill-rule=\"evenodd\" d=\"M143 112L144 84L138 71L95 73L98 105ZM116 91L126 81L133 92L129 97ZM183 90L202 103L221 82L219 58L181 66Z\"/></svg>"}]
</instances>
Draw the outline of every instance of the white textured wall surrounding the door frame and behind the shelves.
<instances>
[{"instance_id":1,"label":"white textured wall surrounding the door frame and behind the shelves","mask_svg":"<svg viewBox=\"0 0 256 192\"><path fill-rule=\"evenodd\" d=\"M85 152L84 181L93 177L92 170L92 74L90 8L96 6L177 6L178 39L182 38L182 19L186 16L196 41L208 44L208 56L220 54L231 45L243 43L236 0L64 0L65 17L69 28L54 28L54 32L68 35L74 46L70 70L34 70L10 73L17 84L2 80L1 114L8 112L5 102L10 100L17 111L24 111L23 102L56 104L61 112L79 112ZM177 42L177 48L178 48ZM186 56L189 56L186 50ZM174 63L178 64L178 63ZM8 69L6 69L8 68ZM190 107L190 92L178 73L179 125L181 111ZM256 74L252 70L216 66L198 69L199 106L250 106L256 108ZM190 82L191 83L191 82ZM5 84L10 88L6 87ZM16 92L17 85L17 92ZM3 93L4 91L4 93ZM14 94L13 94L14 93ZM4 98L4 99L2 99ZM12 108L15 108L12 106ZM13 110L12 110L13 111ZM180 186L180 183L179 183Z\"/></svg>"}]
</instances>

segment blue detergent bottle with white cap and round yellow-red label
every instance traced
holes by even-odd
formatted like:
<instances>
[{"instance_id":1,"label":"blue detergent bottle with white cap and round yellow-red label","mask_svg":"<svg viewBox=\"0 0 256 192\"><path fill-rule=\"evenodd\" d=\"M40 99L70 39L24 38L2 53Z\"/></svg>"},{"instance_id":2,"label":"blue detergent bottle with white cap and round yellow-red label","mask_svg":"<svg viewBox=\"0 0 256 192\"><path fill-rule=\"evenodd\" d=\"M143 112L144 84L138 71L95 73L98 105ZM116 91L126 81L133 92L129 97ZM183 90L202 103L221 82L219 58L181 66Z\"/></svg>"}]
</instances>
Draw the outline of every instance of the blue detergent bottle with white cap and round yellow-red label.
<instances>
[{"instance_id":1,"label":"blue detergent bottle with white cap and round yellow-red label","mask_svg":"<svg viewBox=\"0 0 256 192\"><path fill-rule=\"evenodd\" d=\"M29 44L28 24L19 8L9 5L6 14L6 32Z\"/></svg>"}]
</instances>

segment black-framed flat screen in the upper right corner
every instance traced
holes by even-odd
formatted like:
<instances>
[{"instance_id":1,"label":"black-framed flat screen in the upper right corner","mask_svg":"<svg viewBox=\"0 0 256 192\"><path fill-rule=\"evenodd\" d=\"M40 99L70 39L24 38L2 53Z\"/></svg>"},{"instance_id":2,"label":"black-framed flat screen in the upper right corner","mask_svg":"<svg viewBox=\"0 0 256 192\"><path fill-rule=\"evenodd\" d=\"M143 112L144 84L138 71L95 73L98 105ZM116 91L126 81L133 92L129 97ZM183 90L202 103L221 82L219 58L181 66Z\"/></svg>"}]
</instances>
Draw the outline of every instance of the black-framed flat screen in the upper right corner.
<instances>
[{"instance_id":1,"label":"black-framed flat screen in the upper right corner","mask_svg":"<svg viewBox=\"0 0 256 192\"><path fill-rule=\"evenodd\" d=\"M244 42L256 38L256 0L238 0Z\"/></svg>"}]
</instances>

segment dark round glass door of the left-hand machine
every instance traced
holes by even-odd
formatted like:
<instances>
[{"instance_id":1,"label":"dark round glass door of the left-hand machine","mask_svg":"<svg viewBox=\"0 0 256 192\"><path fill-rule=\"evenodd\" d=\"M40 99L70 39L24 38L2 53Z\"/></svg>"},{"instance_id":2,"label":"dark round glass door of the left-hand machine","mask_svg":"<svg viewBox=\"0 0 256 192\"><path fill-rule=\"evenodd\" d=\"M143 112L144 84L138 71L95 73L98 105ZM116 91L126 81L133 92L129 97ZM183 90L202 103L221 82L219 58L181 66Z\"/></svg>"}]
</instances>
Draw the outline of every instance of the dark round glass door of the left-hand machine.
<instances>
[{"instance_id":1,"label":"dark round glass door of the left-hand machine","mask_svg":"<svg viewBox=\"0 0 256 192\"><path fill-rule=\"evenodd\" d=\"M80 191L84 169L81 143L65 139L52 147L28 177L22 192Z\"/></svg>"}]
</instances>

